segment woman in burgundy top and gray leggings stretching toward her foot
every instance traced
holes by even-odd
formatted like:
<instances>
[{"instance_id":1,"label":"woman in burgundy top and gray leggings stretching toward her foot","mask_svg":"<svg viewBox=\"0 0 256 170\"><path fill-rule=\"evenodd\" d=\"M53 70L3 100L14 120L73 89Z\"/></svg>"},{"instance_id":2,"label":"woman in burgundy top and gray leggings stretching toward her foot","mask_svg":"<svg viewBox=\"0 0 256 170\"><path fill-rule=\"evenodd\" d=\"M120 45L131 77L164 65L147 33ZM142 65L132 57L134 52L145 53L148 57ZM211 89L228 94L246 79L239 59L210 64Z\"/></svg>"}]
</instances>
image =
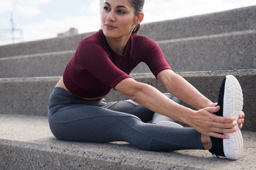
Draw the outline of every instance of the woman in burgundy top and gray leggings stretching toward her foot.
<instances>
[{"instance_id":1,"label":"woman in burgundy top and gray leggings stretching toward her foot","mask_svg":"<svg viewBox=\"0 0 256 170\"><path fill-rule=\"evenodd\" d=\"M154 40L136 34L144 18L143 6L144 0L105 0L102 30L81 40L50 95L53 135L70 141L125 141L153 151L210 147L223 151L220 142L237 132L238 125L242 128L244 113L240 111L238 121L234 116L213 114L220 106L175 74ZM129 77L139 62L149 66L170 94L198 110L181 106L170 94ZM107 103L104 97L112 88L130 100ZM161 125L157 113L192 128ZM147 123L153 117L153 123Z\"/></svg>"}]
</instances>

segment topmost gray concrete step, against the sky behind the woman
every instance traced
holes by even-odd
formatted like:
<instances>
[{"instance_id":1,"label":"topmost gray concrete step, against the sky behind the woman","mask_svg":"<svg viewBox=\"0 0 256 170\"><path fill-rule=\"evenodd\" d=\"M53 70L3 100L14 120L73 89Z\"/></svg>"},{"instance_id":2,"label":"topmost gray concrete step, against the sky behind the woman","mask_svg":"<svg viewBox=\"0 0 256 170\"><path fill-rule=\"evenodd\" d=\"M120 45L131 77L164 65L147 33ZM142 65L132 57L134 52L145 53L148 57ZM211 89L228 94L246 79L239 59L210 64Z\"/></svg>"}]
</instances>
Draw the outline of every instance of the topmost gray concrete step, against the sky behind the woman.
<instances>
[{"instance_id":1,"label":"topmost gray concrete step, against the sky behind the woman","mask_svg":"<svg viewBox=\"0 0 256 170\"><path fill-rule=\"evenodd\" d=\"M255 20L256 6L250 6L201 16L145 23L142 24L139 34L146 35L154 40L198 37L241 30L253 30L256 28ZM83 33L66 38L50 38L47 40L0 46L0 57L75 50L78 42L90 34Z\"/></svg>"}]
</instances>

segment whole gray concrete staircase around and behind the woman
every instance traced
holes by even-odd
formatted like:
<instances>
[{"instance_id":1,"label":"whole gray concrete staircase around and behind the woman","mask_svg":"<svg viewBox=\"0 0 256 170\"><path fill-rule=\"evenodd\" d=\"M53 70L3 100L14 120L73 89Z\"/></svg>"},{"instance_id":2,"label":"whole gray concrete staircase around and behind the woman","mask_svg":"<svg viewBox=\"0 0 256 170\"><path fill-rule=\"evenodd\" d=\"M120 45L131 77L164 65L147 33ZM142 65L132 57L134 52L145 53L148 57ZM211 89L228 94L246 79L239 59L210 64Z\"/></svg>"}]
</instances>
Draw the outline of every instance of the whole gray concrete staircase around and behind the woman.
<instances>
[{"instance_id":1,"label":"whole gray concrete staircase around and behind the woman","mask_svg":"<svg viewBox=\"0 0 256 170\"><path fill-rule=\"evenodd\" d=\"M231 162L208 151L148 152L126 142L63 142L48 128L47 102L78 42L91 33L0 46L0 169L256 169L256 6L146 23L175 72L212 101L227 74L244 93L244 152ZM57 67L56 67L57 66ZM144 64L137 81L165 89ZM107 101L125 99L111 91Z\"/></svg>"}]
</instances>

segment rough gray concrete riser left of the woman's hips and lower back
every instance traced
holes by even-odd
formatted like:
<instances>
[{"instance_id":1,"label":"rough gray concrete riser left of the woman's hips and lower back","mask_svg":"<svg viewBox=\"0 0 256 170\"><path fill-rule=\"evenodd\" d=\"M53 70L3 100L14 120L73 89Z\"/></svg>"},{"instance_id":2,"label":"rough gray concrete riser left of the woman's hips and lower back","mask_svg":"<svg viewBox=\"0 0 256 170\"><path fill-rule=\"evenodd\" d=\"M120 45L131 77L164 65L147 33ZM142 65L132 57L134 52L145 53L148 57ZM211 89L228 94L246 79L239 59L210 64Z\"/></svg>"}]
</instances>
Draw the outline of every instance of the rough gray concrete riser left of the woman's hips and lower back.
<instances>
[{"instance_id":1,"label":"rough gray concrete riser left of the woman's hips and lower back","mask_svg":"<svg viewBox=\"0 0 256 170\"><path fill-rule=\"evenodd\" d=\"M47 115L48 98L60 77L0 79L1 113Z\"/></svg>"}]
</instances>

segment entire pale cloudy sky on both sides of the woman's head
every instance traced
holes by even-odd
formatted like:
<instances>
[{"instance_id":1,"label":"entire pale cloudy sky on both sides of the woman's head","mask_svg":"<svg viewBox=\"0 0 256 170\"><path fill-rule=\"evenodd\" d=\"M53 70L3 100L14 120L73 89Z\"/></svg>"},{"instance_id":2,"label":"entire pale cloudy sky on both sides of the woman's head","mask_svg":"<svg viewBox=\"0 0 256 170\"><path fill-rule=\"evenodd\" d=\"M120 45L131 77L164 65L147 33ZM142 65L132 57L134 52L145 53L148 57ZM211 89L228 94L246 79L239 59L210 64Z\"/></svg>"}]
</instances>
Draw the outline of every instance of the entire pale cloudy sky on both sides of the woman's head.
<instances>
[{"instance_id":1,"label":"entire pale cloudy sky on both sides of the woman's head","mask_svg":"<svg viewBox=\"0 0 256 170\"><path fill-rule=\"evenodd\" d=\"M144 21L164 21L186 16L256 5L256 0L145 0ZM1 0L0 45L55 38L70 28L78 33L100 29L100 0Z\"/></svg>"}]
</instances>

